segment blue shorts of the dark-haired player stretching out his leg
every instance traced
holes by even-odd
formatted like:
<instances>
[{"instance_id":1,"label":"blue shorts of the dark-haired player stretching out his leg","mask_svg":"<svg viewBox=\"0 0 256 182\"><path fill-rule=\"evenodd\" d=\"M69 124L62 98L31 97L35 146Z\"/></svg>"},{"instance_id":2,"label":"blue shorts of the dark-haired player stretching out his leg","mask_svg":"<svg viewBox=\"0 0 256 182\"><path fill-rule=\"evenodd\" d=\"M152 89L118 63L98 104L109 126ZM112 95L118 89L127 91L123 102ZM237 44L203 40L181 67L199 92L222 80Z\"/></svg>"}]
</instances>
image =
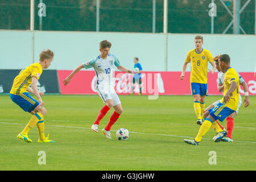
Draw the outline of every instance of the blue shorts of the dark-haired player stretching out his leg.
<instances>
[{"instance_id":1,"label":"blue shorts of the dark-haired player stretching out his leg","mask_svg":"<svg viewBox=\"0 0 256 182\"><path fill-rule=\"evenodd\" d=\"M224 104L219 102L217 106L213 107L212 109L209 110L210 115L215 119L215 120L220 120L221 122L226 119L230 114L236 112L235 110L229 109L229 107L226 107Z\"/></svg>"}]
</instances>

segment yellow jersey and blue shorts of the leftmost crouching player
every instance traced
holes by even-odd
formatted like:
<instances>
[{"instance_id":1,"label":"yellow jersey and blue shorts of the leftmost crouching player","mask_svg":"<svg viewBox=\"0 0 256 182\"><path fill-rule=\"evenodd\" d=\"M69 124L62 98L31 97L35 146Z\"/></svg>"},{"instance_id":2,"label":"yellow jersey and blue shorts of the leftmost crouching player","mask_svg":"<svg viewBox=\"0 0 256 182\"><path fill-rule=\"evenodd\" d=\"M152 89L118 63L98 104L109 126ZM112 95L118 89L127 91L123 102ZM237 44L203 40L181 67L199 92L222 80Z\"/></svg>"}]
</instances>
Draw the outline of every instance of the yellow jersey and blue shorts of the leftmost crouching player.
<instances>
[{"instance_id":1,"label":"yellow jersey and blue shorts of the leftmost crouching player","mask_svg":"<svg viewBox=\"0 0 256 182\"><path fill-rule=\"evenodd\" d=\"M27 88L31 84L32 77L38 80L43 72L43 68L39 63L34 63L19 72L14 78L13 86L10 91L11 100L20 106L24 111L32 111L39 102L27 93Z\"/></svg>"}]
</instances>

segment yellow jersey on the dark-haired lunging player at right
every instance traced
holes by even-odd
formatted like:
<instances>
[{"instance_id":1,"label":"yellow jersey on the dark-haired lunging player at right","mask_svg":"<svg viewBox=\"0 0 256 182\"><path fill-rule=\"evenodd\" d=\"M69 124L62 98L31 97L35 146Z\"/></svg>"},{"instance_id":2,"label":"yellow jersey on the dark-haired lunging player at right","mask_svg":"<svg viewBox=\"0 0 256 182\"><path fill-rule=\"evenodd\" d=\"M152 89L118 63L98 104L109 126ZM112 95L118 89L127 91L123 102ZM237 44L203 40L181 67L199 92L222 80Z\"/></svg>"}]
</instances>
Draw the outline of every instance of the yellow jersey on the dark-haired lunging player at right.
<instances>
[{"instance_id":1,"label":"yellow jersey on the dark-haired lunging player at right","mask_svg":"<svg viewBox=\"0 0 256 182\"><path fill-rule=\"evenodd\" d=\"M228 68L228 70L225 72L224 75L224 96L226 92L228 92L230 88L230 84L232 82L237 82L237 88L230 94L229 102L226 102L225 106L229 107L229 109L237 110L238 107L238 101L239 101L239 77L237 75L237 72L234 70L234 68ZM224 103L224 98L222 98L221 103Z\"/></svg>"}]
</instances>

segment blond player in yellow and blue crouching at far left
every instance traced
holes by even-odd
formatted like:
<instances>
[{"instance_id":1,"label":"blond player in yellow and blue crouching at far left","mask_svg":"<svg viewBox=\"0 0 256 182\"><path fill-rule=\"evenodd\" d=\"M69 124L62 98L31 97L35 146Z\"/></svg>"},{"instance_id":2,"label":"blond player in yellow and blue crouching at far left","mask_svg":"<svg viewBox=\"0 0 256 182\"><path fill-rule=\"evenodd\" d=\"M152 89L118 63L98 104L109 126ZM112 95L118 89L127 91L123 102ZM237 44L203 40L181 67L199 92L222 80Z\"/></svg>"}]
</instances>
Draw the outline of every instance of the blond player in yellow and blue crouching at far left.
<instances>
[{"instance_id":1,"label":"blond player in yellow and blue crouching at far left","mask_svg":"<svg viewBox=\"0 0 256 182\"><path fill-rule=\"evenodd\" d=\"M19 75L15 77L10 91L11 100L25 112L32 114L27 126L17 136L18 139L28 143L32 142L32 140L28 138L28 132L35 125L38 127L39 143L55 142L49 140L49 135L47 137L44 136L44 115L46 114L46 108L44 108L44 102L41 98L43 92L39 92L38 86L36 86L43 69L47 69L51 65L53 56L54 53L49 49L42 51L39 55L39 63L31 64L27 68L22 69ZM30 84L31 88L28 87ZM35 94L38 101L28 95L27 91Z\"/></svg>"}]
</instances>

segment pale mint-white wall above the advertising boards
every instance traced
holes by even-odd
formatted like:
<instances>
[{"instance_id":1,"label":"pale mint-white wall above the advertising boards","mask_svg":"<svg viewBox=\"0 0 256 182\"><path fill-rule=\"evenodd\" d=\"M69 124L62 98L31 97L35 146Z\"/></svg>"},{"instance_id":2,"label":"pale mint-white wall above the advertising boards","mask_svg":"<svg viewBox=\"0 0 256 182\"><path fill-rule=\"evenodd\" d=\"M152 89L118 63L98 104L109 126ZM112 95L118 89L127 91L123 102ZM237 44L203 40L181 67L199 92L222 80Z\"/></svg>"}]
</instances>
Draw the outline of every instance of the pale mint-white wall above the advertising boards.
<instances>
[{"instance_id":1,"label":"pale mint-white wall above the advertising boards","mask_svg":"<svg viewBox=\"0 0 256 182\"><path fill-rule=\"evenodd\" d=\"M201 34L202 35L202 34ZM194 48L196 34L168 34L167 71L181 71L187 52ZM212 55L228 53L238 72L254 72L255 35L203 34L205 49ZM32 63L31 31L0 31L0 69L21 69ZM111 52L122 65L133 68L133 57L139 57L144 71L165 71L164 35L124 32L35 31L35 61L42 49L52 49L55 59L50 69L72 70L99 55L101 40L112 42ZM188 67L187 71L190 71Z\"/></svg>"}]
</instances>

